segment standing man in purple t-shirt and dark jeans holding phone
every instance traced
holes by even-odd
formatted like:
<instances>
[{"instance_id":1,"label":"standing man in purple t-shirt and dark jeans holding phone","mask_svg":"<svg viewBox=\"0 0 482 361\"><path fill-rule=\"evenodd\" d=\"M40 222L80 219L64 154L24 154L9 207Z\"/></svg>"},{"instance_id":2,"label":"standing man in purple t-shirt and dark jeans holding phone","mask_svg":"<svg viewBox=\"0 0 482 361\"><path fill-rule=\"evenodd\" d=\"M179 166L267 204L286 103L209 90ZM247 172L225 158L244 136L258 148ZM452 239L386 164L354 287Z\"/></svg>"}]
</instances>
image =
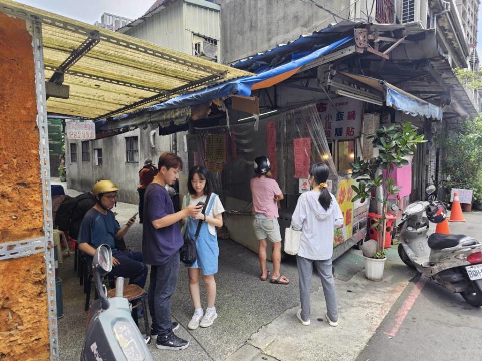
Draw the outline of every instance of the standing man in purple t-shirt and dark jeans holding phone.
<instances>
[{"instance_id":1,"label":"standing man in purple t-shirt and dark jeans holding phone","mask_svg":"<svg viewBox=\"0 0 482 361\"><path fill-rule=\"evenodd\" d=\"M151 265L149 284L149 312L151 313L151 338L159 349L182 350L189 342L177 337L179 324L171 321L171 296L176 289L179 273L179 249L183 237L179 221L194 217L202 206L188 206L174 213L174 205L165 186L173 185L182 170L182 160L172 153L159 157L159 172L144 194L144 222L142 223L142 254Z\"/></svg>"}]
</instances>

